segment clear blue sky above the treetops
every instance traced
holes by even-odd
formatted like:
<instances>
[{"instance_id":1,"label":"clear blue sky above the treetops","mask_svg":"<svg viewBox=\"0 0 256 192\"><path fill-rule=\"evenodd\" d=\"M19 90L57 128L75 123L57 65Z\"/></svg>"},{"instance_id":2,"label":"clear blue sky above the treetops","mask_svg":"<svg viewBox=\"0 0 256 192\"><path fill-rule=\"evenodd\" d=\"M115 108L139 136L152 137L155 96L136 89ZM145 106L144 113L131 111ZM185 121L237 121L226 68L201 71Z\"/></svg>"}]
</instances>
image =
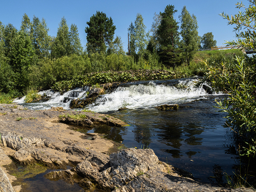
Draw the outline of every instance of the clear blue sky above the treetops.
<instances>
[{"instance_id":1,"label":"clear blue sky above the treetops","mask_svg":"<svg viewBox=\"0 0 256 192\"><path fill-rule=\"evenodd\" d=\"M39 18L45 18L50 28L49 35L56 37L61 18L66 18L70 27L72 23L78 26L80 40L83 47L86 45L86 22L97 11L105 12L108 18L113 19L116 26L116 35L121 37L124 43L124 50L127 51L127 28L130 23L134 23L137 13L143 16L146 30L151 29L154 13L164 12L167 4L172 4L178 12L174 15L179 22L178 15L181 15L181 9L186 6L189 13L194 14L197 18L198 34L203 36L207 32L214 34L217 40L217 46L225 43L225 40L235 39L233 26L227 26L227 20L224 20L219 13L225 12L229 15L238 13L236 3L238 0L10 0L1 1L0 4L0 21L7 25L12 23L13 26L20 29L21 20L26 13L32 20L34 15ZM239 1L241 2L241 1ZM243 3L248 6L249 1Z\"/></svg>"}]
</instances>

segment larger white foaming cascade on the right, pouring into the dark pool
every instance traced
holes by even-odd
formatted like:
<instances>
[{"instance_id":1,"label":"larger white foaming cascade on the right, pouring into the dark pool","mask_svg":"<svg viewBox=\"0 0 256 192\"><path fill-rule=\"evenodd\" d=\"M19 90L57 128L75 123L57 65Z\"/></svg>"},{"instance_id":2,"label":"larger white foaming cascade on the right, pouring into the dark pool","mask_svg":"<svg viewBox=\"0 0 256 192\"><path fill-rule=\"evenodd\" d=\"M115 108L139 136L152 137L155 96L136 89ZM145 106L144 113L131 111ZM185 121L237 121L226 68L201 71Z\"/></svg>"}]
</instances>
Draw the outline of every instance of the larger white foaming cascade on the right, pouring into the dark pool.
<instances>
[{"instance_id":1,"label":"larger white foaming cascade on the right, pouring into the dark pool","mask_svg":"<svg viewBox=\"0 0 256 192\"><path fill-rule=\"evenodd\" d=\"M154 82L149 82L148 85L119 87L113 93L97 99L87 108L94 112L108 112L122 107L138 109L202 99L208 93L202 87L196 88L195 82L197 80L179 80L176 86L156 85Z\"/></svg>"}]
</instances>

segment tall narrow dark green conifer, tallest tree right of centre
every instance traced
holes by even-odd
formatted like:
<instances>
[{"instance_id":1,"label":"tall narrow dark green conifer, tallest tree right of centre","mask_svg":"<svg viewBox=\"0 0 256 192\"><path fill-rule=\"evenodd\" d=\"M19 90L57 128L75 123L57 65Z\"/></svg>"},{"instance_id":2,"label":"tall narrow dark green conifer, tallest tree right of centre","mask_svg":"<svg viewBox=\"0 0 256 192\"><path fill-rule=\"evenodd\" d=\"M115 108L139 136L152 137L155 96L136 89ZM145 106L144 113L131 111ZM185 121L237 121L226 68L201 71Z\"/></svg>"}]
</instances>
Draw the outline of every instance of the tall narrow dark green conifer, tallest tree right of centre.
<instances>
[{"instance_id":1,"label":"tall narrow dark green conifer, tallest tree right of centre","mask_svg":"<svg viewBox=\"0 0 256 192\"><path fill-rule=\"evenodd\" d=\"M157 29L159 37L159 56L163 64L175 66L179 62L178 55L178 22L173 18L177 12L173 5L167 5L165 12L160 12L162 18Z\"/></svg>"}]
</instances>

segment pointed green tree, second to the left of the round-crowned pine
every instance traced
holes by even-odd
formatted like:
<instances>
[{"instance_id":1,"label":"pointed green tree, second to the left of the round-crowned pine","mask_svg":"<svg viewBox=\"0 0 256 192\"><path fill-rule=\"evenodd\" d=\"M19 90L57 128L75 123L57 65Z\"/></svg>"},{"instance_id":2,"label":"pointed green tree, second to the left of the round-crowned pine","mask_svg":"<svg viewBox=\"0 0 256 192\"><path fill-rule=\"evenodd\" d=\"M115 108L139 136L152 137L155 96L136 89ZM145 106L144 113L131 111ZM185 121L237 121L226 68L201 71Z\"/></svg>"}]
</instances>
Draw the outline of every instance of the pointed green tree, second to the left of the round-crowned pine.
<instances>
[{"instance_id":1,"label":"pointed green tree, second to the left of the round-crowned pine","mask_svg":"<svg viewBox=\"0 0 256 192\"><path fill-rule=\"evenodd\" d=\"M53 58L61 58L65 55L71 54L71 42L69 38L69 27L67 26L67 20L61 18L57 36L54 39L51 56Z\"/></svg>"}]
</instances>

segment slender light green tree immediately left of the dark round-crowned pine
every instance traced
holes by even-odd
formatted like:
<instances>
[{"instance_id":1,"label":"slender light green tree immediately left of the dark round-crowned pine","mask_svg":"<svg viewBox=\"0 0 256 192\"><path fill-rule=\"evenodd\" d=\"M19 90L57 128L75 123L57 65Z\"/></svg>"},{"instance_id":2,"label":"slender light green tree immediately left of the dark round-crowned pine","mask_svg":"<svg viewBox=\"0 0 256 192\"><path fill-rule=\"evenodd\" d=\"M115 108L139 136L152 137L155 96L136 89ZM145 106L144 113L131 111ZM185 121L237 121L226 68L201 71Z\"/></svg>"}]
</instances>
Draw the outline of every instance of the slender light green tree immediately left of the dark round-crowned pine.
<instances>
[{"instance_id":1,"label":"slender light green tree immediately left of the dark round-crowned pine","mask_svg":"<svg viewBox=\"0 0 256 192\"><path fill-rule=\"evenodd\" d=\"M83 53L83 47L81 45L78 27L75 24L72 24L69 31L69 39L71 44L71 54L80 55Z\"/></svg>"}]
</instances>

